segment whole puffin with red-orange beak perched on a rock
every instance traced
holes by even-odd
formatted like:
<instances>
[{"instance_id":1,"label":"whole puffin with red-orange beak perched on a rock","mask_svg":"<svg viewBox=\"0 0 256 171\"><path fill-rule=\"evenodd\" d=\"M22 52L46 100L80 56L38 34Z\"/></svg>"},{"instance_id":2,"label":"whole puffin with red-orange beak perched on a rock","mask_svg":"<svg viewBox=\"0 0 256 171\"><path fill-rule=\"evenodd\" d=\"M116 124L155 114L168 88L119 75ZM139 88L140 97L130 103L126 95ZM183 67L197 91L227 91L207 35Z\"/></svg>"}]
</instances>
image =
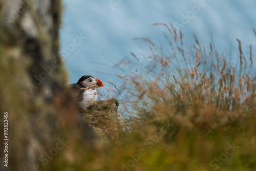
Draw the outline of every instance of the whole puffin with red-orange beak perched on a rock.
<instances>
[{"instance_id":1,"label":"whole puffin with red-orange beak perched on a rock","mask_svg":"<svg viewBox=\"0 0 256 171\"><path fill-rule=\"evenodd\" d=\"M95 88L103 87L103 83L91 76L83 75L77 83L70 84L78 98L78 105L82 108L89 108L97 100Z\"/></svg>"}]
</instances>

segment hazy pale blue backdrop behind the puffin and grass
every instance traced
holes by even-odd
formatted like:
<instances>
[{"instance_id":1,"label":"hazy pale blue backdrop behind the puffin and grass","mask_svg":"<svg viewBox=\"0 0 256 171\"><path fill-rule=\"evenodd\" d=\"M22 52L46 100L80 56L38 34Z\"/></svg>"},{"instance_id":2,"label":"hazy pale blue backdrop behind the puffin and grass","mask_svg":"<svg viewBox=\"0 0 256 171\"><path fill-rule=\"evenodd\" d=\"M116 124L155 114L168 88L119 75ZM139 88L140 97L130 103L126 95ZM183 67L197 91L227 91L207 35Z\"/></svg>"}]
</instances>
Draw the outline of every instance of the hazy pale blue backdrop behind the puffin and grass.
<instances>
[{"instance_id":1,"label":"hazy pale blue backdrop behind the puffin and grass","mask_svg":"<svg viewBox=\"0 0 256 171\"><path fill-rule=\"evenodd\" d=\"M252 31L256 28L255 0L63 0L63 5L61 55L70 83L86 74L116 83L115 75L124 73L114 67L115 63L132 58L130 52L137 56L148 53L147 44L133 38L149 37L156 45L165 44L165 28L151 26L153 23L181 26L185 47L195 44L191 32L196 32L204 44L208 44L212 34L216 48L224 55L228 55L230 47L232 53L237 53L236 38L242 41L245 54L249 53L249 44L256 54ZM82 38L74 45L77 36ZM236 61L234 57L233 63Z\"/></svg>"}]
</instances>

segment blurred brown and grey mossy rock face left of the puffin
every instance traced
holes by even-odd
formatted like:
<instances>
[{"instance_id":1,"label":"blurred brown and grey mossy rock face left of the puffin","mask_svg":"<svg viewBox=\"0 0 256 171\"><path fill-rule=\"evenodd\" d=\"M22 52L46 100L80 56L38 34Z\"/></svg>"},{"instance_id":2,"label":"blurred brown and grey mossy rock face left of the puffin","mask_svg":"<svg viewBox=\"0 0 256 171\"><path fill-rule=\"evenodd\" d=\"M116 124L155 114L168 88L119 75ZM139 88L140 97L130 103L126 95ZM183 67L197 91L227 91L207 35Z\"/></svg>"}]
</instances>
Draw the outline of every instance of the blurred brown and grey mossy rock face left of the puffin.
<instances>
[{"instance_id":1,"label":"blurred brown and grey mossy rock face left of the puffin","mask_svg":"<svg viewBox=\"0 0 256 171\"><path fill-rule=\"evenodd\" d=\"M60 0L0 2L0 113L8 112L9 123L8 167L1 164L0 170L61 170L63 162L74 165L86 160L78 154L97 154L102 147L66 86L68 76L59 56L60 23ZM117 115L117 105L114 110L103 106L109 111L107 118ZM96 111L93 115L100 118ZM4 149L3 137L0 141ZM56 155L60 142L64 150ZM3 150L0 154L5 155Z\"/></svg>"}]
</instances>

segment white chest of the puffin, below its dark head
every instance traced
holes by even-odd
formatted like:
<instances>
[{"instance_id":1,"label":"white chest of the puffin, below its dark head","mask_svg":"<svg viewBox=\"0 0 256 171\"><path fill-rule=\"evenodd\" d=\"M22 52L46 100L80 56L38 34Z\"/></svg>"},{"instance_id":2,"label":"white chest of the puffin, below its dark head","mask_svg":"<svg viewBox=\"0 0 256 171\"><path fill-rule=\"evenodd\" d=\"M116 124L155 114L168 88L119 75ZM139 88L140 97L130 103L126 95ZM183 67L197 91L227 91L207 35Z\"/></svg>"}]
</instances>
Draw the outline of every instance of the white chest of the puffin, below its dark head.
<instances>
[{"instance_id":1,"label":"white chest of the puffin, below its dark head","mask_svg":"<svg viewBox=\"0 0 256 171\"><path fill-rule=\"evenodd\" d=\"M97 92L94 89L88 89L83 92L82 100L80 101L80 105L83 108L89 108L93 103L97 100Z\"/></svg>"}]
</instances>

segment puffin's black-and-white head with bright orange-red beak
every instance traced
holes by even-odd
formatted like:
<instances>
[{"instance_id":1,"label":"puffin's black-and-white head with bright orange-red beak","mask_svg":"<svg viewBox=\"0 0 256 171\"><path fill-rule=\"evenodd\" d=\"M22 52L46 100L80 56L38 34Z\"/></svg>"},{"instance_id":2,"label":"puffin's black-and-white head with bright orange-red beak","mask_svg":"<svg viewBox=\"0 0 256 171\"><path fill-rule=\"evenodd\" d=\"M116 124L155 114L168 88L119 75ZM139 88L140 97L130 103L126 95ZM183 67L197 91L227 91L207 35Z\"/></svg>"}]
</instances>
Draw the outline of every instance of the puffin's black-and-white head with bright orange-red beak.
<instances>
[{"instance_id":1,"label":"puffin's black-and-white head with bright orange-red beak","mask_svg":"<svg viewBox=\"0 0 256 171\"><path fill-rule=\"evenodd\" d=\"M84 87L94 87L94 86L97 86L97 87L103 87L103 83L91 76L91 75L83 75L78 81L77 81L77 84L81 84L82 86Z\"/></svg>"}]
</instances>

